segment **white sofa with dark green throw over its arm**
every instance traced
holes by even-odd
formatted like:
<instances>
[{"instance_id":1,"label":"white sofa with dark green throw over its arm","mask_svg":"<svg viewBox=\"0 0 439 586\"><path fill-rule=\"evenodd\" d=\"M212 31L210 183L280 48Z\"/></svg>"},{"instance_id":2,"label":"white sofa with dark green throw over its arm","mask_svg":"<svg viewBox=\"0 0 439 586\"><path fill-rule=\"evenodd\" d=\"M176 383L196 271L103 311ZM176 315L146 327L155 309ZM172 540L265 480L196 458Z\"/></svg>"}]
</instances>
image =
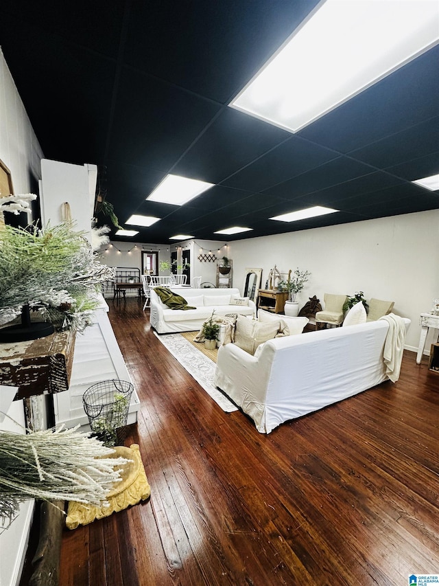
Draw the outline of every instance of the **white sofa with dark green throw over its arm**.
<instances>
[{"instance_id":1,"label":"white sofa with dark green throw over its arm","mask_svg":"<svg viewBox=\"0 0 439 586\"><path fill-rule=\"evenodd\" d=\"M195 332L199 330L206 319L215 315L224 317L227 313L254 315L255 304L249 300L248 305L230 305L231 297L241 297L239 289L173 289L176 295L182 295L189 305L196 309L169 309L154 289L151 290L150 324L158 334L171 332Z\"/></svg>"}]
</instances>

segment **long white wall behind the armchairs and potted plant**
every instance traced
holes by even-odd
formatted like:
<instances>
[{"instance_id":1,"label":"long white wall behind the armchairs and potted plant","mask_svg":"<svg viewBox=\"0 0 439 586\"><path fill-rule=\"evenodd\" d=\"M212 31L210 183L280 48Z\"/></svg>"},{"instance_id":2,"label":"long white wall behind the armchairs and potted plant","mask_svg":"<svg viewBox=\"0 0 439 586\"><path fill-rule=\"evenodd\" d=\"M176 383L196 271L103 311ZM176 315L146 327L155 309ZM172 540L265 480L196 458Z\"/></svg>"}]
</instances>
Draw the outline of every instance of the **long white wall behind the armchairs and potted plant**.
<instances>
[{"instance_id":1,"label":"long white wall behind the armchairs and potted plant","mask_svg":"<svg viewBox=\"0 0 439 586\"><path fill-rule=\"evenodd\" d=\"M233 284L242 289L246 267L261 268L262 288L274 264L311 271L298 296L353 294L394 301L394 313L412 320L406 347L418 347L420 313L439 297L439 210L237 240L229 245ZM432 341L429 335L425 348Z\"/></svg>"}]
</instances>

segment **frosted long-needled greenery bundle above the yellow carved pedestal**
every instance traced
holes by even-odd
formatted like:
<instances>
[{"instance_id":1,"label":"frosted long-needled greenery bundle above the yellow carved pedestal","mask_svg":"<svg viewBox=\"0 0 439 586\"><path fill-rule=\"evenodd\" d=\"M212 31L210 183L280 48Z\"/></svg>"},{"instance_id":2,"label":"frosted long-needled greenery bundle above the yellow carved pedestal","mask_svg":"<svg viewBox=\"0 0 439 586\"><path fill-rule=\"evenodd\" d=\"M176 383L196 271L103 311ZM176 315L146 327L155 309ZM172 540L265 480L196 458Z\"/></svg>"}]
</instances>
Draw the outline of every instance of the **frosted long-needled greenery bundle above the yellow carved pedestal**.
<instances>
[{"instance_id":1,"label":"frosted long-needled greenery bundle above the yellow carved pedestal","mask_svg":"<svg viewBox=\"0 0 439 586\"><path fill-rule=\"evenodd\" d=\"M129 461L106 458L113 450L78 427L27 435L0 431L0 526L27 499L105 504L121 480L120 466Z\"/></svg>"}]
</instances>

